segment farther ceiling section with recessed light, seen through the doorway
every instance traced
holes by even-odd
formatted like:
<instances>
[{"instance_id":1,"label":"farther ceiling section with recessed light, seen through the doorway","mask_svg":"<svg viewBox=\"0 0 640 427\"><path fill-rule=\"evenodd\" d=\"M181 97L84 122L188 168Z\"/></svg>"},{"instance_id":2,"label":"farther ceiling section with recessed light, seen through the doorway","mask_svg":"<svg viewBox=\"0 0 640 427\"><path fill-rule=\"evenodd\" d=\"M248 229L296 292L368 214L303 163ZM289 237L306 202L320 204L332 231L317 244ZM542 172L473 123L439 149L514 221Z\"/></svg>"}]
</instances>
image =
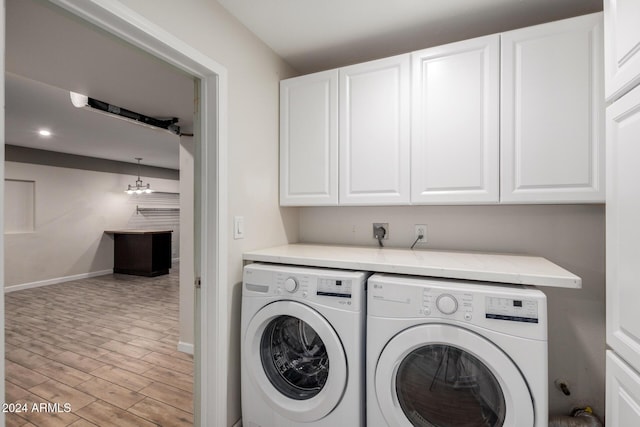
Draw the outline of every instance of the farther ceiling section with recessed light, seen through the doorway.
<instances>
[{"instance_id":1,"label":"farther ceiling section with recessed light, seen through the doorway","mask_svg":"<svg viewBox=\"0 0 640 427\"><path fill-rule=\"evenodd\" d=\"M76 108L69 91L5 74L5 140L11 145L178 169L180 140L168 131ZM52 134L40 136L40 129Z\"/></svg>"}]
</instances>

